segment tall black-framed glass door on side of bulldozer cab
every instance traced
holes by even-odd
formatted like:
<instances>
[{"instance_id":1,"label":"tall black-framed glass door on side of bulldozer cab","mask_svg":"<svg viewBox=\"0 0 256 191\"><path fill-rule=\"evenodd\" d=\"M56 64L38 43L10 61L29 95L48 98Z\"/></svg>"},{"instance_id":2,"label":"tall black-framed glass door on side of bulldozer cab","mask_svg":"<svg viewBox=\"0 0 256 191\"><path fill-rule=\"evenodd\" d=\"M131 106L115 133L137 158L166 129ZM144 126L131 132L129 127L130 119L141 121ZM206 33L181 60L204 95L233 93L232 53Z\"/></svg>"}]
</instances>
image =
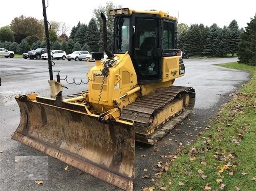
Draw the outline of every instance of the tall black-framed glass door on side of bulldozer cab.
<instances>
[{"instance_id":1,"label":"tall black-framed glass door on side of bulldozer cab","mask_svg":"<svg viewBox=\"0 0 256 191\"><path fill-rule=\"evenodd\" d=\"M161 80L160 19L151 14L133 14L132 59L139 83Z\"/></svg>"}]
</instances>

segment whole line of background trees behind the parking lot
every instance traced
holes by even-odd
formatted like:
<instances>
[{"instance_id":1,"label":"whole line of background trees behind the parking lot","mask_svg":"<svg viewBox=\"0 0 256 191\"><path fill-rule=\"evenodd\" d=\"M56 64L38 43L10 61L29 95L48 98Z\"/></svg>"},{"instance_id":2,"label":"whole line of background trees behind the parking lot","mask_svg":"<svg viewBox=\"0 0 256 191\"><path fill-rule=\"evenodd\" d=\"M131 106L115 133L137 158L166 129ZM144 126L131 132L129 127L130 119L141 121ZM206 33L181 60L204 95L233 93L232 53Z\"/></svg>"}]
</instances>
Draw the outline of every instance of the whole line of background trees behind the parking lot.
<instances>
[{"instance_id":1,"label":"whole line of background trees behind the parking lot","mask_svg":"<svg viewBox=\"0 0 256 191\"><path fill-rule=\"evenodd\" d=\"M107 2L106 6L99 6L93 10L93 18L89 24L78 22L73 26L69 37L69 26L63 22L50 21L49 37L51 49L62 49L67 54L75 50L103 51L103 26L100 13L107 18L107 44L108 49L113 50L114 18L107 12L120 8L113 2ZM194 57L225 57L227 54L239 56L240 62L255 65L255 16L247 23L247 27L239 29L236 20L232 20L229 26L223 28L217 24L204 26L203 24L177 25L178 39L183 44L190 56ZM32 17L16 17L10 26L0 28L0 47L5 47L16 53L25 53L31 49L45 47L44 22Z\"/></svg>"}]
</instances>

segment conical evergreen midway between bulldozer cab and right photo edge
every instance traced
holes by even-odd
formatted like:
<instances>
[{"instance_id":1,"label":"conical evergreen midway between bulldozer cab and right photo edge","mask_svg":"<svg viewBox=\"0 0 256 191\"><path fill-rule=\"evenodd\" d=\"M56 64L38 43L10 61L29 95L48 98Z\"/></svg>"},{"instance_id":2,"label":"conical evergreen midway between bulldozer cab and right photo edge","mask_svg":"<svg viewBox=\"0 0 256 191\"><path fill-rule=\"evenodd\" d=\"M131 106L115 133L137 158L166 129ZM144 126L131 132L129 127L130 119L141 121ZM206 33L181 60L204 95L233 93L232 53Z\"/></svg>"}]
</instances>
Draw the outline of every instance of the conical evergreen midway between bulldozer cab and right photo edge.
<instances>
[{"instance_id":1,"label":"conical evergreen midway between bulldozer cab and right photo edge","mask_svg":"<svg viewBox=\"0 0 256 191\"><path fill-rule=\"evenodd\" d=\"M204 55L215 57L221 55L220 49L220 38L218 37L220 33L220 28L217 24L213 24L208 32L208 37L206 38L206 45L204 46Z\"/></svg>"}]
</instances>

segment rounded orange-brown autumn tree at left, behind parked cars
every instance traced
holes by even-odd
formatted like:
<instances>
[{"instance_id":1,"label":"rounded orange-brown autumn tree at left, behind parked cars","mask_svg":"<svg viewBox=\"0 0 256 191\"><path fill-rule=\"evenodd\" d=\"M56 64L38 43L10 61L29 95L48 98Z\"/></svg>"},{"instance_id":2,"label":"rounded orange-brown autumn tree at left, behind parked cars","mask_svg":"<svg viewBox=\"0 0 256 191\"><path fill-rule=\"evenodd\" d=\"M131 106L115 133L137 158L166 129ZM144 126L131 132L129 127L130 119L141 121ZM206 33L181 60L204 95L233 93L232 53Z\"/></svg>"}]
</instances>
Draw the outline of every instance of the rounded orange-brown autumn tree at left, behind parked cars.
<instances>
[{"instance_id":1,"label":"rounded orange-brown autumn tree at left, behind parked cars","mask_svg":"<svg viewBox=\"0 0 256 191\"><path fill-rule=\"evenodd\" d=\"M25 37L32 35L42 39L43 28L42 22L36 18L25 17L24 15L14 18L10 24L10 29L14 33L15 40L18 43Z\"/></svg>"}]
</instances>

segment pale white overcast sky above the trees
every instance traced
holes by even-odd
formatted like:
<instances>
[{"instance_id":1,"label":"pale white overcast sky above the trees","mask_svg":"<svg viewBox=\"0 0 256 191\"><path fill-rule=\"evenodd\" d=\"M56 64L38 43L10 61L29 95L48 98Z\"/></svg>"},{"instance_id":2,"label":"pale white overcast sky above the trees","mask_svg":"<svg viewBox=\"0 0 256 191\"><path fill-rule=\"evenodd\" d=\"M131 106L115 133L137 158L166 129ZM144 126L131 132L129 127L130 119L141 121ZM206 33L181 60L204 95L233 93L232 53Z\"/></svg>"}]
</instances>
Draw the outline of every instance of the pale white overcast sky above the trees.
<instances>
[{"instance_id":1,"label":"pale white overcast sky above the trees","mask_svg":"<svg viewBox=\"0 0 256 191\"><path fill-rule=\"evenodd\" d=\"M47 4L47 0L46 4ZM256 0L107 0L115 5L133 10L162 10L178 18L178 23L204 24L216 23L223 28L232 20L239 28L247 26L256 13ZM81 23L88 24L93 10L105 6L106 0L48 0L46 14L48 20L65 22L70 30ZM0 27L9 25L13 18L20 15L31 16L38 20L42 16L42 0L1 0Z\"/></svg>"}]
</instances>

